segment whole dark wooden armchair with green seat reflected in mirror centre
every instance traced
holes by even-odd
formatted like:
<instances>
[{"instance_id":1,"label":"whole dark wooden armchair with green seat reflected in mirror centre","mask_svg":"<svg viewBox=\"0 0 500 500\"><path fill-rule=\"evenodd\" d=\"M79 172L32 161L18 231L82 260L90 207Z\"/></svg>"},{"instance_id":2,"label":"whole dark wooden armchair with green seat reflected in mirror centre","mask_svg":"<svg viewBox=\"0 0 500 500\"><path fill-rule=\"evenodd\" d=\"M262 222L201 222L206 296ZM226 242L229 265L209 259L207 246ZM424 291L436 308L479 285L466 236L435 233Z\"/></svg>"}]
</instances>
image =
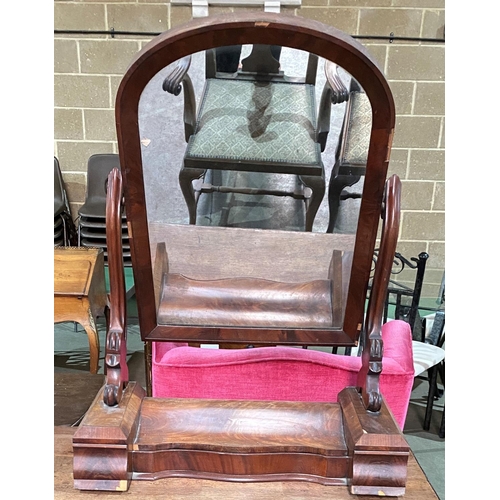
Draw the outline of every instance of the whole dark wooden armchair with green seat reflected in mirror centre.
<instances>
[{"instance_id":1,"label":"whole dark wooden armchair with green seat reflected in mirror centre","mask_svg":"<svg viewBox=\"0 0 500 500\"><path fill-rule=\"evenodd\" d=\"M297 78L280 69L280 52L281 46L255 44L238 69L241 45L207 50L206 82L197 113L188 74L190 56L179 61L163 82L163 89L174 95L184 88L188 146L179 182L190 224L196 223L200 194L216 191L305 200L305 229L312 230L325 192L321 152L329 133L330 107L344 102L348 92L336 66L326 65L327 80L317 111L318 56L309 54L306 75ZM195 188L193 181L205 180L207 169L259 172L264 180L260 187L231 186L234 182L226 176L225 185L203 182ZM298 176L300 183L288 191L276 189L265 183L265 176L273 173Z\"/></svg>"}]
</instances>

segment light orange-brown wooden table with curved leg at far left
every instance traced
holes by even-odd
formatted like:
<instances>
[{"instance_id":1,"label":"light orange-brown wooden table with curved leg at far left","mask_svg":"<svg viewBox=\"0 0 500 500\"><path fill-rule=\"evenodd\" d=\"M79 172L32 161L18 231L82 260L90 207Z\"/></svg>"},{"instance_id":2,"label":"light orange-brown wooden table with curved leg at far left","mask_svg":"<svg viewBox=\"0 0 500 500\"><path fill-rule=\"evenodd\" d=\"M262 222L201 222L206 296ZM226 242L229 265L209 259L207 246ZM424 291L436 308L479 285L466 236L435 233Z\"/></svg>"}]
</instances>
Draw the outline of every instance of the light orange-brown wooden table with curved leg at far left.
<instances>
[{"instance_id":1,"label":"light orange-brown wooden table with curved leg at far left","mask_svg":"<svg viewBox=\"0 0 500 500\"><path fill-rule=\"evenodd\" d=\"M98 316L107 307L104 252L98 248L54 248L54 323L80 323L89 338L90 372L99 368Z\"/></svg>"}]
</instances>

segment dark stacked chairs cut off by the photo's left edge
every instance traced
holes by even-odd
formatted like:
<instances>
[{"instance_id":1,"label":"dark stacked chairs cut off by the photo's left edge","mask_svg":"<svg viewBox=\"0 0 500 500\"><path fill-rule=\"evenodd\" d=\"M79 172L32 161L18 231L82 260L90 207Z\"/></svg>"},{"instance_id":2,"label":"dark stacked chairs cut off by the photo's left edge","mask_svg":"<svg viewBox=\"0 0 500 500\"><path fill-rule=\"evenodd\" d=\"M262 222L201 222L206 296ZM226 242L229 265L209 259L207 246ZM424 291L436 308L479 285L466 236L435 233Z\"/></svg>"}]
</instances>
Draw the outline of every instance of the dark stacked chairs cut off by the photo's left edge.
<instances>
[{"instance_id":1,"label":"dark stacked chairs cut off by the photo's left edge","mask_svg":"<svg viewBox=\"0 0 500 500\"><path fill-rule=\"evenodd\" d=\"M67 247L75 244L76 228L71 218L59 160L54 156L54 246Z\"/></svg>"}]
</instances>

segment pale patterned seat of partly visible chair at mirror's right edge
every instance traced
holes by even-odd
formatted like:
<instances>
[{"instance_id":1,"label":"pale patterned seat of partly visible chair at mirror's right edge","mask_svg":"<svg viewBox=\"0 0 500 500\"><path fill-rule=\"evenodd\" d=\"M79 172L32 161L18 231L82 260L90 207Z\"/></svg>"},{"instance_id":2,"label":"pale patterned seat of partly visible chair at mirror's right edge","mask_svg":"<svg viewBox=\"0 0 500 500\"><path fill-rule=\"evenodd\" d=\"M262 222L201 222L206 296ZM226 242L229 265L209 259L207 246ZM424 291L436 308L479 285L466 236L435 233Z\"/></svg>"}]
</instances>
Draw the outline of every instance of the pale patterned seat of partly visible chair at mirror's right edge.
<instances>
[{"instance_id":1,"label":"pale patterned seat of partly visible chair at mirror's right edge","mask_svg":"<svg viewBox=\"0 0 500 500\"><path fill-rule=\"evenodd\" d=\"M350 116L341 162L366 165L372 130L372 107L364 92L351 92L349 101Z\"/></svg>"}]
</instances>

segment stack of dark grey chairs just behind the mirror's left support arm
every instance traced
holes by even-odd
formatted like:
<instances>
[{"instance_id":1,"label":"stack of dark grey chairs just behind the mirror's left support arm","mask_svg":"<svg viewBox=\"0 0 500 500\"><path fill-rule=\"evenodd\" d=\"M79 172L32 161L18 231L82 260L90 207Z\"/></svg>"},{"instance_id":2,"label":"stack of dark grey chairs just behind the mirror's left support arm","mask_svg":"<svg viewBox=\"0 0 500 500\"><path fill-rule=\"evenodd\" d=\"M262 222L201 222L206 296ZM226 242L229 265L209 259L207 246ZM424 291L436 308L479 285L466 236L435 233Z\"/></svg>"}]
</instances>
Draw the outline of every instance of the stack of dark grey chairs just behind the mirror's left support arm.
<instances>
[{"instance_id":1,"label":"stack of dark grey chairs just behind the mirror's left support arm","mask_svg":"<svg viewBox=\"0 0 500 500\"><path fill-rule=\"evenodd\" d=\"M117 154L95 154L89 158L85 203L78 211L78 245L102 248L105 262L107 262L108 258L106 245L106 187L108 175L114 167L120 168L120 160ZM130 267L132 261L125 213L122 214L122 244L123 263L125 266Z\"/></svg>"}]
</instances>

